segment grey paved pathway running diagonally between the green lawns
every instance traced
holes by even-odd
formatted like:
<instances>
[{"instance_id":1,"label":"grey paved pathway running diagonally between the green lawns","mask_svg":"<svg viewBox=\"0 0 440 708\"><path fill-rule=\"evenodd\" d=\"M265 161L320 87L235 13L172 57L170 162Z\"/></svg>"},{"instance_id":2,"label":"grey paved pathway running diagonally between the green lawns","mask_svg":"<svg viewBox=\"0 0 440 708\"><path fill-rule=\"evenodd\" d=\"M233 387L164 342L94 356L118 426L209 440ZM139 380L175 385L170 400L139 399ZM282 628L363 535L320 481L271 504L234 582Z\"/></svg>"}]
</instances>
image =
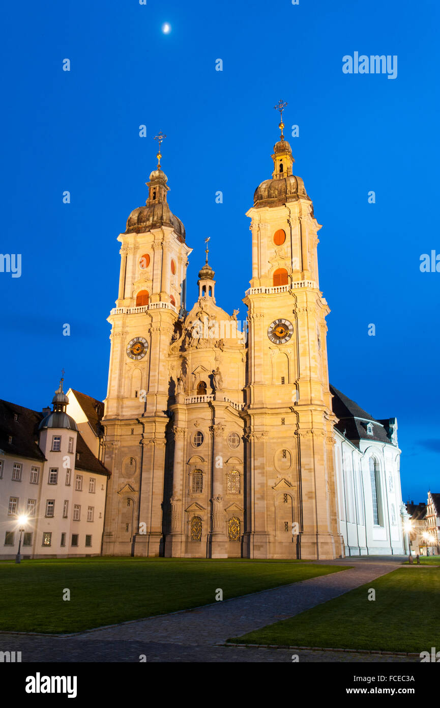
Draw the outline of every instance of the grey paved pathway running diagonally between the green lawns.
<instances>
[{"instance_id":1,"label":"grey paved pathway running diagonally between the green lawns","mask_svg":"<svg viewBox=\"0 0 440 708\"><path fill-rule=\"evenodd\" d=\"M0 633L1 651L21 651L22 661L152 662L291 661L292 650L216 646L266 624L298 615L394 570L398 557L318 561L354 566L274 590L244 595L213 605L161 617L103 627L76 636L55 637ZM411 657L297 652L300 661L417 661Z\"/></svg>"}]
</instances>

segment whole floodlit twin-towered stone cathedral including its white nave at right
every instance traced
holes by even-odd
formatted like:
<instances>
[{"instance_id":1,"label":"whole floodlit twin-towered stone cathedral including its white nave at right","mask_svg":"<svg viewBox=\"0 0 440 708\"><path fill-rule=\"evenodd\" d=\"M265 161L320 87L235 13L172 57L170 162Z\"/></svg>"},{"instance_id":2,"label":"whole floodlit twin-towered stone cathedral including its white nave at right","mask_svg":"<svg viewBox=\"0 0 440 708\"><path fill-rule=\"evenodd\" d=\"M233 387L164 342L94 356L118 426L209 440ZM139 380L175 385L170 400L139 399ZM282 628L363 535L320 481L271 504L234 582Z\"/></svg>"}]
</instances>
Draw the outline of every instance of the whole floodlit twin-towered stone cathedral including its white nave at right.
<instances>
[{"instance_id":1,"label":"whole floodlit twin-towered stone cathedral including its white nave at right","mask_svg":"<svg viewBox=\"0 0 440 708\"><path fill-rule=\"evenodd\" d=\"M282 111L281 111L282 116ZM333 559L405 548L397 422L376 420L329 384L318 231L289 142L250 218L252 273L238 311L199 271L151 172L121 244L103 464L111 472L104 555ZM207 239L209 240L209 239Z\"/></svg>"}]
</instances>

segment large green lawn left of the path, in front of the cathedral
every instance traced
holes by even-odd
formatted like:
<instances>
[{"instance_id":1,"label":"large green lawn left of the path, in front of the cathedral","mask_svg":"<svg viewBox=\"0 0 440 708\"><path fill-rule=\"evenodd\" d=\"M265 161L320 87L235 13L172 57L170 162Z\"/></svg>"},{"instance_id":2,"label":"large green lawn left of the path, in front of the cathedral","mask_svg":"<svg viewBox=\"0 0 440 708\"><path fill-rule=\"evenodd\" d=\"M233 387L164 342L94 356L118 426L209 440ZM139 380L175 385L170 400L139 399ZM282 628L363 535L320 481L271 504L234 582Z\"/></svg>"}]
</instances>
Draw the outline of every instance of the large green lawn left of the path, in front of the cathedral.
<instances>
[{"instance_id":1,"label":"large green lawn left of the path, in front of the cathedral","mask_svg":"<svg viewBox=\"0 0 440 708\"><path fill-rule=\"evenodd\" d=\"M0 630L78 632L343 570L301 561L81 558L0 563ZM69 601L63 600L69 588Z\"/></svg>"}]
</instances>

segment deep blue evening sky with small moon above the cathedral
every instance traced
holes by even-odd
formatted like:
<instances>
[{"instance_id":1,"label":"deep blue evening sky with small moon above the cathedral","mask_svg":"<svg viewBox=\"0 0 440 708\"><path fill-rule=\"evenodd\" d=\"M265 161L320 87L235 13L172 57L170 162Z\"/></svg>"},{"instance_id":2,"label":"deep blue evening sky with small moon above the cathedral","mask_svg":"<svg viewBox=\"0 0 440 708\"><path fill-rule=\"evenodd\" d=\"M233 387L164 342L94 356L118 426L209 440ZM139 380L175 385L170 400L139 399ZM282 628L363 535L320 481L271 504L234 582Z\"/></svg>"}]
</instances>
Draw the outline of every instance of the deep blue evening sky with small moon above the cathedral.
<instances>
[{"instance_id":1,"label":"deep blue evening sky with small moon above the cathedral","mask_svg":"<svg viewBox=\"0 0 440 708\"><path fill-rule=\"evenodd\" d=\"M23 272L0 273L1 398L40 410L62 367L67 387L104 398L116 237L146 199L158 130L170 207L194 249L187 305L209 235L216 301L243 319L245 211L270 178L283 98L295 173L323 224L330 381L398 418L404 500L440 491L440 273L419 270L422 253L440 253L439 15L437 0L9 3L0 251L21 253ZM343 74L355 51L398 55L397 79Z\"/></svg>"}]
</instances>

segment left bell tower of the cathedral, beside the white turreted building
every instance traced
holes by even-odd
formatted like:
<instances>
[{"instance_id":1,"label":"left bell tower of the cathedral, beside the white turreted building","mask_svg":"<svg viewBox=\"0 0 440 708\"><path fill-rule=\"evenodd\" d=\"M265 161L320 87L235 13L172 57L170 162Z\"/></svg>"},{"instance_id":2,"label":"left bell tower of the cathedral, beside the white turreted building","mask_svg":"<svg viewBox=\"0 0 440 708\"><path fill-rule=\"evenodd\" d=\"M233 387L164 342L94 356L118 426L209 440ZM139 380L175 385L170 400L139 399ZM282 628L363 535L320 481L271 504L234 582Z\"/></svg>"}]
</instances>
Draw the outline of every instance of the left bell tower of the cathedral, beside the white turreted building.
<instances>
[{"instance_id":1,"label":"left bell tower of the cathedral, beside the white turreted building","mask_svg":"<svg viewBox=\"0 0 440 708\"><path fill-rule=\"evenodd\" d=\"M168 206L168 178L158 164L148 198L118 236L116 307L110 312L110 366L105 399L108 489L103 552L159 555L169 423L168 355L185 310L187 257L183 223Z\"/></svg>"}]
</instances>

